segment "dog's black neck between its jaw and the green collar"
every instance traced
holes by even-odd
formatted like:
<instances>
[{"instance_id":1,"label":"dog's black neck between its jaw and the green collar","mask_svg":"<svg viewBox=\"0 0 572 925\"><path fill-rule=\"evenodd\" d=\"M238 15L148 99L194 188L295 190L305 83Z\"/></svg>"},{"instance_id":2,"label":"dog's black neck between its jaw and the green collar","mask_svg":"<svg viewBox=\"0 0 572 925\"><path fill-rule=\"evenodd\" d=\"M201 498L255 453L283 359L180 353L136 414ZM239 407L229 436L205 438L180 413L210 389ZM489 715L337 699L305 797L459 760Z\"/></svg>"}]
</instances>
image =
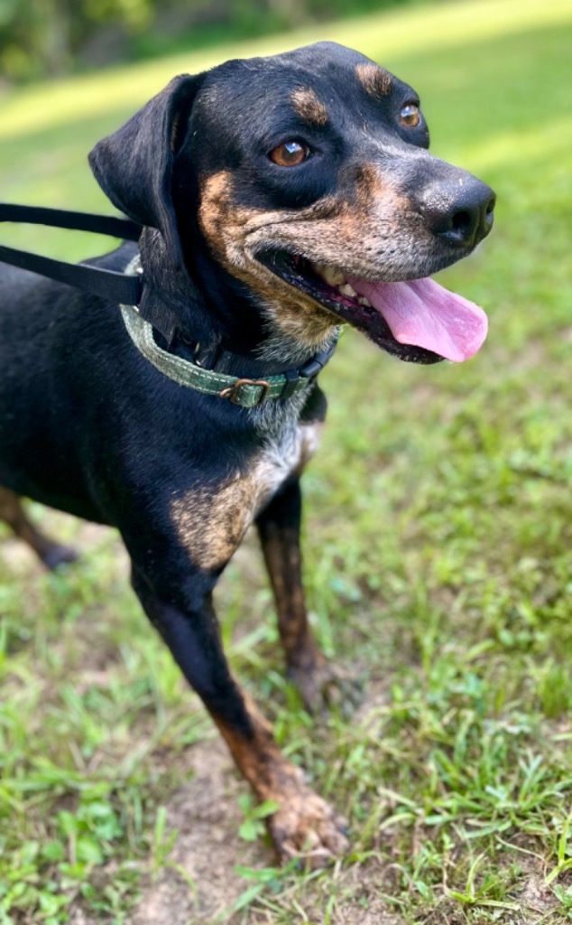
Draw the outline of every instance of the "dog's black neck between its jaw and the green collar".
<instances>
[{"instance_id":1,"label":"dog's black neck between its jaw and the green collar","mask_svg":"<svg viewBox=\"0 0 572 925\"><path fill-rule=\"evenodd\" d=\"M302 366L337 339L338 328L332 327L323 344L310 349L286 334L269 331L262 311L255 309L239 285L227 282L224 272L211 271L195 283L199 266L175 267L154 228L143 230L140 257L148 320L162 333L174 330L177 351L202 356L217 372L251 378L275 375ZM201 294L205 290L206 297Z\"/></svg>"}]
</instances>

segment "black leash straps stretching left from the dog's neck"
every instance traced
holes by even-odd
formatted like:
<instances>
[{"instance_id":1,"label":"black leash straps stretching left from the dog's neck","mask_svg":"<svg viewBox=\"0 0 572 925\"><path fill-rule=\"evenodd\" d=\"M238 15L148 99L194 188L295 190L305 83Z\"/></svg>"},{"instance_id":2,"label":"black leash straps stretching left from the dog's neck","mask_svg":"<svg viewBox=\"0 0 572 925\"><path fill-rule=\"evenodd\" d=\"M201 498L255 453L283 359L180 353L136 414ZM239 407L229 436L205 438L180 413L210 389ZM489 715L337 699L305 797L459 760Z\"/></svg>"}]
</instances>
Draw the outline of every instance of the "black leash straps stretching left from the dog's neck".
<instances>
[{"instance_id":1,"label":"black leash straps stretching left from the dog's neck","mask_svg":"<svg viewBox=\"0 0 572 925\"><path fill-rule=\"evenodd\" d=\"M0 222L25 222L29 225L46 225L51 228L69 228L75 231L92 231L123 240L140 239L142 227L128 218L93 216L65 209L44 209L34 205L0 203ZM17 251L0 244L0 263L18 266L40 276L67 283L91 292L112 302L138 305L143 292L140 275L128 277L115 270L103 270L86 264L67 264L62 260L42 257L37 253Z\"/></svg>"}]
</instances>

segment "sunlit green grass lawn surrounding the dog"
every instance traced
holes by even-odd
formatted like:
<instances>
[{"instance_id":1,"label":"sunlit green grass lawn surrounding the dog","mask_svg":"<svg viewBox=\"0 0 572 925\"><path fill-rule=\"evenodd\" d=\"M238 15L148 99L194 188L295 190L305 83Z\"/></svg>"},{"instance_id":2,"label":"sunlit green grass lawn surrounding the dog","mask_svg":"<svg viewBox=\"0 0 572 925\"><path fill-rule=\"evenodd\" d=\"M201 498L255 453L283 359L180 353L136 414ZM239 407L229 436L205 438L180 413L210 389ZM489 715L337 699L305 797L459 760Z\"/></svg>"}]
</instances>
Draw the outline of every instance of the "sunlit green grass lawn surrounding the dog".
<instances>
[{"instance_id":1,"label":"sunlit green grass lawn surrounding the dog","mask_svg":"<svg viewBox=\"0 0 572 925\"><path fill-rule=\"evenodd\" d=\"M435 153L498 192L493 236L443 275L488 310L491 333L469 364L417 368L347 332L323 375L307 586L324 648L364 682L353 720L311 722L284 682L252 540L225 574L233 667L349 817L352 854L318 876L267 867L265 810L238 785L223 819L238 813L240 836L218 824L238 838L243 886L219 921L572 921L571 21L569 3L498 0L328 27L419 88ZM213 60L7 97L3 197L105 209L91 144ZM33 228L2 240L69 259L102 250ZM46 575L0 530L0 922L122 922L163 884L165 921L213 925L201 904L215 884L181 863L171 808L213 730L128 591L115 536L90 534L77 566Z\"/></svg>"}]
</instances>

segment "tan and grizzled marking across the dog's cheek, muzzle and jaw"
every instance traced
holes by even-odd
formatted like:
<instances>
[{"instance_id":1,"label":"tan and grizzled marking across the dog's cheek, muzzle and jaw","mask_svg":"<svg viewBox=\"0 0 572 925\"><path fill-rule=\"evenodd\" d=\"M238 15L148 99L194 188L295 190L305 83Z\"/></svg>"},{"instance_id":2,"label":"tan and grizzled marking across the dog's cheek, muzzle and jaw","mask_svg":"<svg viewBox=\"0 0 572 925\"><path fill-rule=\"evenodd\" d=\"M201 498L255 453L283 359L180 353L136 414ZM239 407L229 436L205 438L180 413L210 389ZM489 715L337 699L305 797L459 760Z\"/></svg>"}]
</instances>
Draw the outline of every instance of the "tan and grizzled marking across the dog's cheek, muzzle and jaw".
<instances>
[{"instance_id":1,"label":"tan and grizzled marking across the dog's cheek, muzzle and jaw","mask_svg":"<svg viewBox=\"0 0 572 925\"><path fill-rule=\"evenodd\" d=\"M356 166L351 169L356 173ZM340 319L267 270L253 256L257 247L284 247L315 263L351 269L355 276L377 266L383 272L385 253L390 267L392 261L399 264L399 272L419 259L426 236L408 198L383 181L379 167L365 163L357 170L341 184L350 190L347 200L325 197L298 211L233 203L227 171L203 182L199 217L205 239L220 264L258 297L277 339L316 350Z\"/></svg>"}]
</instances>

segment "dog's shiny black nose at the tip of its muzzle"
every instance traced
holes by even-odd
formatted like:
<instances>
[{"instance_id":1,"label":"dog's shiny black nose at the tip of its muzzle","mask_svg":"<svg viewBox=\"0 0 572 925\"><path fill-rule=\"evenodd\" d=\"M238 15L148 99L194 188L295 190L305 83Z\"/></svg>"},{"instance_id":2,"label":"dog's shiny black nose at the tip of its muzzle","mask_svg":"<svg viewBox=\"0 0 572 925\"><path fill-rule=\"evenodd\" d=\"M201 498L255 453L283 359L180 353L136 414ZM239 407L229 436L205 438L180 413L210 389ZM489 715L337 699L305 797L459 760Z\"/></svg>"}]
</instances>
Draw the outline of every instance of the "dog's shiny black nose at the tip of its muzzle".
<instances>
[{"instance_id":1,"label":"dog's shiny black nose at the tip of its muzzle","mask_svg":"<svg viewBox=\"0 0 572 925\"><path fill-rule=\"evenodd\" d=\"M470 177L462 183L435 184L424 192L420 212L432 232L447 243L467 248L493 228L494 193Z\"/></svg>"}]
</instances>

